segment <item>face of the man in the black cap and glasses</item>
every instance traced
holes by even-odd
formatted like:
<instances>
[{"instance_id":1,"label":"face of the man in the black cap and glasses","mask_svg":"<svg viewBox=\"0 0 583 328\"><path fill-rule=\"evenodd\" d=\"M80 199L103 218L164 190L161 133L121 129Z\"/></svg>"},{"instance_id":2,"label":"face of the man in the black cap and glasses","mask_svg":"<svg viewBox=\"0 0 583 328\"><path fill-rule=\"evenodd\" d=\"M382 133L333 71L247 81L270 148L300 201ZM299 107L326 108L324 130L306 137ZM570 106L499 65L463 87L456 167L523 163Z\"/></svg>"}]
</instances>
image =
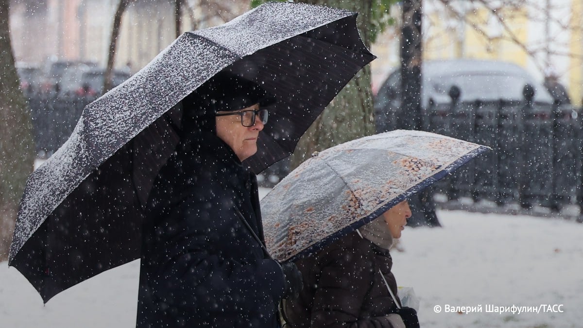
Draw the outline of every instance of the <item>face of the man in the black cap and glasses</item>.
<instances>
[{"instance_id":1,"label":"face of the man in the black cap and glasses","mask_svg":"<svg viewBox=\"0 0 583 328\"><path fill-rule=\"evenodd\" d=\"M259 110L259 104L241 110ZM219 113L229 112L219 111ZM255 117L255 125L251 127L244 127L241 124L240 115L217 116L215 120L217 137L233 149L241 162L257 152L259 131L264 128L259 116Z\"/></svg>"}]
</instances>

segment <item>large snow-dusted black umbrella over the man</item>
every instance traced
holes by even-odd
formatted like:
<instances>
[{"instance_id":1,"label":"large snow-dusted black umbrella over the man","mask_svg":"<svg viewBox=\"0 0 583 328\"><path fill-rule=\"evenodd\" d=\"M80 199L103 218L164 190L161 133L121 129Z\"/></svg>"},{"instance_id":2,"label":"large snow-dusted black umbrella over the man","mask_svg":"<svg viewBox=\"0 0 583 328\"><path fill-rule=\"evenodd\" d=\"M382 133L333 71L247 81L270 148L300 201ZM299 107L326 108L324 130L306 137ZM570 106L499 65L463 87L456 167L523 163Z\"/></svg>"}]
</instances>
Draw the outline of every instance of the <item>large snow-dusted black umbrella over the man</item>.
<instances>
[{"instance_id":1,"label":"large snow-dusted black umbrella over the man","mask_svg":"<svg viewBox=\"0 0 583 328\"><path fill-rule=\"evenodd\" d=\"M275 95L255 173L300 136L374 56L356 13L269 3L222 26L182 34L149 65L87 105L71 137L29 178L9 265L47 302L140 256L142 207L179 140L180 101L229 71ZM178 127L178 128L177 128Z\"/></svg>"}]
</instances>

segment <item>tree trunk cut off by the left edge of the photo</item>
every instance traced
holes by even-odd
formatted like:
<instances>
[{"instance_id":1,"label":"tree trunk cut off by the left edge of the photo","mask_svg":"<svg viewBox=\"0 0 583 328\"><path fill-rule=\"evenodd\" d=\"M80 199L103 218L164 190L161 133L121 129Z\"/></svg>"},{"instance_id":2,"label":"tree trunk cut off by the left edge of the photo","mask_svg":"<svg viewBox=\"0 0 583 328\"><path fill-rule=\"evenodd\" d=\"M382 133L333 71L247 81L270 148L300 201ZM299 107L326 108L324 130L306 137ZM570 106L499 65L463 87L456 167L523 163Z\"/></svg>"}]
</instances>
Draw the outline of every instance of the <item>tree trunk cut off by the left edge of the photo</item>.
<instances>
[{"instance_id":1,"label":"tree trunk cut off by the left edge of the photo","mask_svg":"<svg viewBox=\"0 0 583 328\"><path fill-rule=\"evenodd\" d=\"M0 0L0 261L8 259L18 204L34 165L30 110L10 43L9 2Z\"/></svg>"}]
</instances>

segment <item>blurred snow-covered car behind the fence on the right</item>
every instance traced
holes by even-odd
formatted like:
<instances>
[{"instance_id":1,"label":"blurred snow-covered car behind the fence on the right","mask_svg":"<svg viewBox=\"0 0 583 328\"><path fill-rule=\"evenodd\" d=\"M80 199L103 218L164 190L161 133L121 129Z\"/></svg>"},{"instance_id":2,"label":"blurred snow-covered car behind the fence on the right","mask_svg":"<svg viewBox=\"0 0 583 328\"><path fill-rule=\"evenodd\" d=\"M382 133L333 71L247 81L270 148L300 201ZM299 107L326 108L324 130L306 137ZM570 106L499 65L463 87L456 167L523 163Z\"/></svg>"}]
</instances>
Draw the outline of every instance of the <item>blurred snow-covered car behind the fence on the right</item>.
<instances>
[{"instance_id":1,"label":"blurred snow-covered car behind the fence on the right","mask_svg":"<svg viewBox=\"0 0 583 328\"><path fill-rule=\"evenodd\" d=\"M430 102L451 103L452 95L459 102L496 100L524 100L524 89L531 85L535 90L533 103L552 104L553 97L524 68L504 61L493 60L436 60L422 64L421 105ZM457 89L452 89L452 87ZM395 69L382 83L374 101L377 130L383 130L384 117L401 109L401 69Z\"/></svg>"}]
</instances>

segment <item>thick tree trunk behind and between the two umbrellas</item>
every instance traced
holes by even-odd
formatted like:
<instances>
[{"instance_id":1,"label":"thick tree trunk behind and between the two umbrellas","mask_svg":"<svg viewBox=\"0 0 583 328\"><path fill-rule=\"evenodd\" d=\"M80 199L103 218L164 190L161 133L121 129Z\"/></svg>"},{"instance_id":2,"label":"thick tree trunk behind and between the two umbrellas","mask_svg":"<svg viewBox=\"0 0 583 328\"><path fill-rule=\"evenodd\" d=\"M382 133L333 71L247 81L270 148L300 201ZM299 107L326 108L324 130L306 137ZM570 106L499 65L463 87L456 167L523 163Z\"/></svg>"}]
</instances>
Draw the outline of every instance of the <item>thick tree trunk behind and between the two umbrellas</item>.
<instances>
[{"instance_id":1,"label":"thick tree trunk behind and between the two umbrellas","mask_svg":"<svg viewBox=\"0 0 583 328\"><path fill-rule=\"evenodd\" d=\"M370 47L373 0L307 0L305 2L359 12L357 25L360 36L364 44ZM338 96L301 137L296 151L291 155L290 169L296 168L314 151L322 151L352 139L374 134L373 92L370 79L370 66L367 65L338 93Z\"/></svg>"}]
</instances>

